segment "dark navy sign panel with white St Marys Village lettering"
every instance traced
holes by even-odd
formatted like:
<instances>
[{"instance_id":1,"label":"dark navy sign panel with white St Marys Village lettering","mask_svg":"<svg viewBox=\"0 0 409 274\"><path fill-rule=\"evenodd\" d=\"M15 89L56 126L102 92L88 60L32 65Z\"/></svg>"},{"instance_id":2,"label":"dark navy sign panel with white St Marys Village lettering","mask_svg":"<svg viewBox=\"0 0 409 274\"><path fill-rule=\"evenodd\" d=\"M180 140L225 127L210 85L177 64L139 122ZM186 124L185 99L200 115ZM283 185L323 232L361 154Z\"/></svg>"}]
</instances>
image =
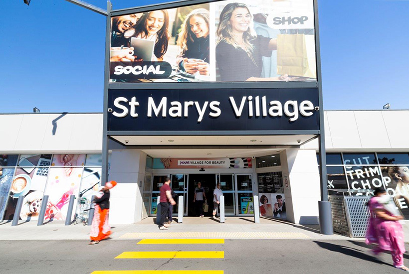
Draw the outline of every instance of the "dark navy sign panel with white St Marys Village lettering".
<instances>
[{"instance_id":1,"label":"dark navy sign panel with white St Marys Village lettering","mask_svg":"<svg viewBox=\"0 0 409 274\"><path fill-rule=\"evenodd\" d=\"M108 131L319 130L318 106L317 88L109 90Z\"/></svg>"}]
</instances>

